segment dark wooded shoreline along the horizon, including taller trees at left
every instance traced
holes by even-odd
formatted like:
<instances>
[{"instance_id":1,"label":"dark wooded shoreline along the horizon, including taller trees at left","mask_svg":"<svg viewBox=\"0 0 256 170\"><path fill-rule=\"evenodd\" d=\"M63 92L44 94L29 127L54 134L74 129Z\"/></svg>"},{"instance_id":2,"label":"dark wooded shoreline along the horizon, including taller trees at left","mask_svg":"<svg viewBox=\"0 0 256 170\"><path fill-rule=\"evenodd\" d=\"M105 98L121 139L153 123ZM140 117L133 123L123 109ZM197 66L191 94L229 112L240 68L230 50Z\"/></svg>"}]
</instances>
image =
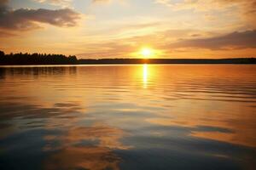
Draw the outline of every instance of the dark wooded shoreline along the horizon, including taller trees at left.
<instances>
[{"instance_id":1,"label":"dark wooded shoreline along the horizon, including taller trees at left","mask_svg":"<svg viewBox=\"0 0 256 170\"><path fill-rule=\"evenodd\" d=\"M4 54L0 65L256 65L256 58L233 59L77 59L62 54Z\"/></svg>"}]
</instances>

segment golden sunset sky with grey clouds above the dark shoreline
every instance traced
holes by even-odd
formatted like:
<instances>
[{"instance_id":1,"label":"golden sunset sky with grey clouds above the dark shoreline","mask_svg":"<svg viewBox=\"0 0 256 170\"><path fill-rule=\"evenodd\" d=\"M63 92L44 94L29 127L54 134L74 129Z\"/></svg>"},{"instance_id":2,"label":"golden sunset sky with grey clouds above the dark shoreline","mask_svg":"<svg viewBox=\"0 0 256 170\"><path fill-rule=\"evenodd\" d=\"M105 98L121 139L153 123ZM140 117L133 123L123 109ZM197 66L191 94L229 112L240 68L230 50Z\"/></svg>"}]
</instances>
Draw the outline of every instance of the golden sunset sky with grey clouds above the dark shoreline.
<instances>
[{"instance_id":1,"label":"golden sunset sky with grey clouds above the dark shoreline","mask_svg":"<svg viewBox=\"0 0 256 170\"><path fill-rule=\"evenodd\" d=\"M256 0L0 0L0 50L78 58L256 57Z\"/></svg>"}]
</instances>

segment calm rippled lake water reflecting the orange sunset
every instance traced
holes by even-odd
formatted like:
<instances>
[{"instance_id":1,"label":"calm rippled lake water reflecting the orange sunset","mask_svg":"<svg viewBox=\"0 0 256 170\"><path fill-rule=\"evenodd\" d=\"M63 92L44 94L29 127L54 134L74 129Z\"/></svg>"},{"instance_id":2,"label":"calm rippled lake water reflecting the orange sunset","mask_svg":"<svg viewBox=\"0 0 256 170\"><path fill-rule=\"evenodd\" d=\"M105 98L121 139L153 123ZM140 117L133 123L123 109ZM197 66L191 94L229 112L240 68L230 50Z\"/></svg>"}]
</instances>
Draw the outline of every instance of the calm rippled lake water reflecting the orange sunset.
<instances>
[{"instance_id":1,"label":"calm rippled lake water reflecting the orange sunset","mask_svg":"<svg viewBox=\"0 0 256 170\"><path fill-rule=\"evenodd\" d=\"M0 68L0 169L256 169L256 66Z\"/></svg>"}]
</instances>

